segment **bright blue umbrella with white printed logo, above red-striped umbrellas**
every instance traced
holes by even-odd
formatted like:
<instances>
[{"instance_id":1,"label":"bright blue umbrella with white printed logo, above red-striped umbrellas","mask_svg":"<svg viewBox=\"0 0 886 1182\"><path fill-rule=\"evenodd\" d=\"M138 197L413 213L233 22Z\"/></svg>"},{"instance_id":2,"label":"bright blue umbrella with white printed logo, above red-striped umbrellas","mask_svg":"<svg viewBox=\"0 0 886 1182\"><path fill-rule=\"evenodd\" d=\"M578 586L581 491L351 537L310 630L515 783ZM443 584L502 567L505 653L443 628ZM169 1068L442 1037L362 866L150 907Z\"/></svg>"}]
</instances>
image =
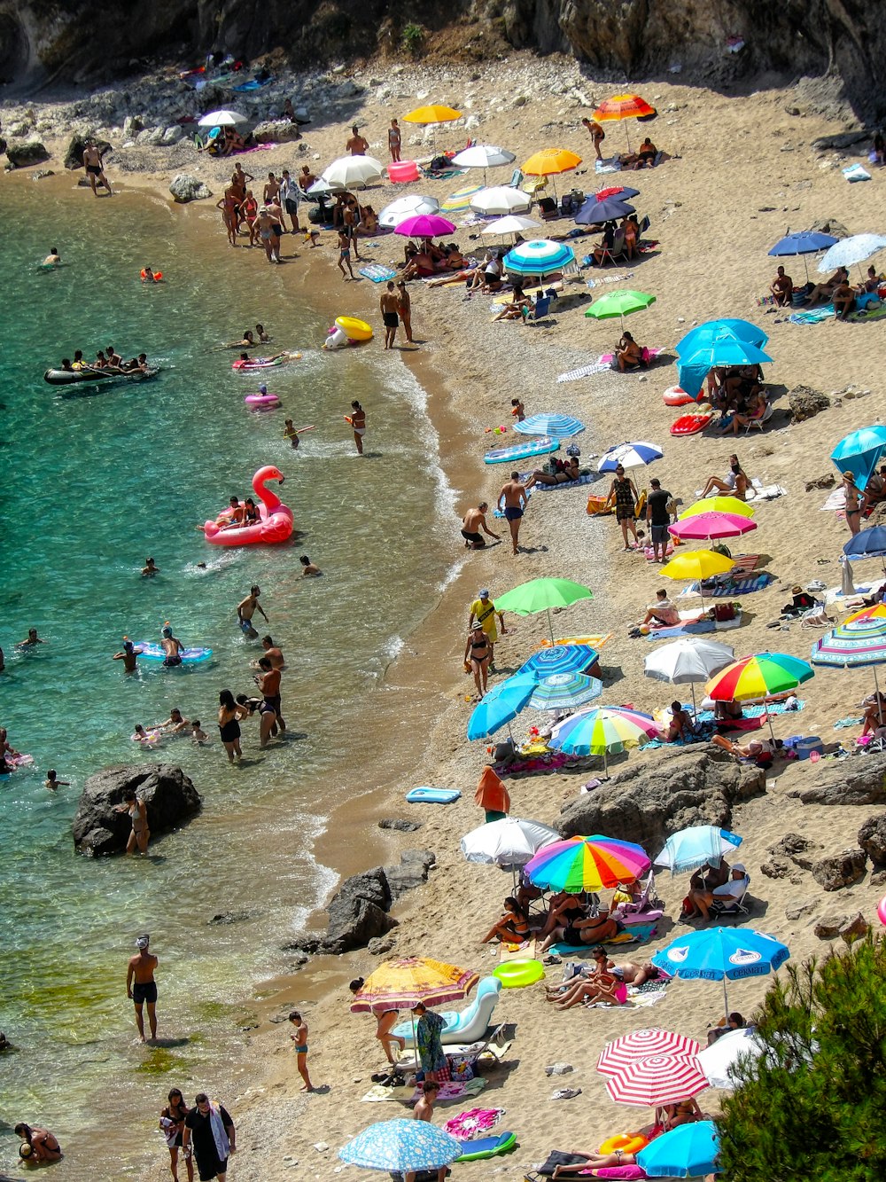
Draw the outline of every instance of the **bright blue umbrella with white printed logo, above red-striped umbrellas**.
<instances>
[{"instance_id":1,"label":"bright blue umbrella with white printed logo, above red-striped umbrellas","mask_svg":"<svg viewBox=\"0 0 886 1182\"><path fill-rule=\"evenodd\" d=\"M789 956L788 948L774 936L753 928L701 928L678 936L656 953L652 963L684 981L722 981L729 1018L727 980L774 973Z\"/></svg>"}]
</instances>

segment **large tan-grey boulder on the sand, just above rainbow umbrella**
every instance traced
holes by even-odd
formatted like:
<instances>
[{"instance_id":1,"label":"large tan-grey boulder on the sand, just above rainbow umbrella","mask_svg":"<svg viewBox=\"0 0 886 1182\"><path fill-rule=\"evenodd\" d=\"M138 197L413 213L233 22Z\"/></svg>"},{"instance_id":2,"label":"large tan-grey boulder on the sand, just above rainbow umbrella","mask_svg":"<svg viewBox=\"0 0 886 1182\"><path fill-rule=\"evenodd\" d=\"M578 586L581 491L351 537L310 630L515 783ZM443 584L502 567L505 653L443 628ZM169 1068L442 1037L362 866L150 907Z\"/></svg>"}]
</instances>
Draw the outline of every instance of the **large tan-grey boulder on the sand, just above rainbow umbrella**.
<instances>
[{"instance_id":1,"label":"large tan-grey boulder on the sand, just above rainbow umbrella","mask_svg":"<svg viewBox=\"0 0 886 1182\"><path fill-rule=\"evenodd\" d=\"M658 853L671 833L689 825L729 829L732 806L766 791L766 772L741 765L714 745L658 752L630 764L607 782L563 806L556 830L618 833Z\"/></svg>"}]
</instances>

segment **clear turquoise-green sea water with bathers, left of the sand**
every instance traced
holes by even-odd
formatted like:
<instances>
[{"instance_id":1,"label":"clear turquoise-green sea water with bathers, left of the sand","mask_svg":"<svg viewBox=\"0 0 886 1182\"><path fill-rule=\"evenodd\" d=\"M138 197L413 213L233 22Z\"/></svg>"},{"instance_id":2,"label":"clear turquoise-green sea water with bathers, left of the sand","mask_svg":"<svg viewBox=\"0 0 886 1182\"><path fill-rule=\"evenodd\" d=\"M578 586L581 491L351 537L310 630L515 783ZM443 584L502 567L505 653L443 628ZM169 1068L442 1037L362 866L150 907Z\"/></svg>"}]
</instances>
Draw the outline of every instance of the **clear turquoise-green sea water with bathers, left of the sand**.
<instances>
[{"instance_id":1,"label":"clear turquoise-green sea water with bathers, left of the sand","mask_svg":"<svg viewBox=\"0 0 886 1182\"><path fill-rule=\"evenodd\" d=\"M421 388L374 345L320 351L327 318L292 282L299 262L272 268L258 251L227 251L214 223L207 245L196 233L204 212L41 183L17 177L0 191L0 725L35 760L0 780L0 1028L21 1048L0 1057L0 1169L15 1161L9 1126L26 1119L65 1143L65 1176L120 1177L157 1152L133 1122L150 1128L174 1082L195 1091L202 1069L236 1053L233 1004L280 968L274 949L327 889L311 840L371 774L356 712L436 599L451 548L438 537L445 489ZM65 266L47 274L37 264L51 246ZM143 287L145 264L168 281ZM332 255L328 273L340 282ZM214 349L256 320L274 351L304 355L268 376L284 411L249 413L242 397L255 381L232 374L235 353ZM43 382L63 356L108 343L124 356L146 351L163 372L71 396ZM353 397L367 413L369 459L354 457L343 421ZM317 424L298 454L281 437L284 417ZM281 496L305 535L279 547L207 545L195 524L230 493L248 494L265 463L285 473ZM305 552L323 578L300 578ZM161 574L142 579L149 553ZM260 648L235 616L250 583L287 658L287 722L305 738L260 752L246 725L245 766L232 769L215 713L221 688L253 688ZM185 644L210 647L213 662L143 662L125 676L111 661L122 636L156 637L167 619ZM47 643L17 655L31 626ZM130 741L136 722L174 706L201 719L209 747L176 739L144 753ZM202 816L146 860L77 856L70 823L86 777L156 758L191 775ZM50 767L71 787L46 791ZM226 910L250 920L207 924ZM175 1044L154 1051L133 1045L125 998L141 930L161 959L159 1033ZM112 1108L133 1118L108 1173L92 1163L86 1175L78 1145L99 1111L108 1123L96 1096L111 1082Z\"/></svg>"}]
</instances>

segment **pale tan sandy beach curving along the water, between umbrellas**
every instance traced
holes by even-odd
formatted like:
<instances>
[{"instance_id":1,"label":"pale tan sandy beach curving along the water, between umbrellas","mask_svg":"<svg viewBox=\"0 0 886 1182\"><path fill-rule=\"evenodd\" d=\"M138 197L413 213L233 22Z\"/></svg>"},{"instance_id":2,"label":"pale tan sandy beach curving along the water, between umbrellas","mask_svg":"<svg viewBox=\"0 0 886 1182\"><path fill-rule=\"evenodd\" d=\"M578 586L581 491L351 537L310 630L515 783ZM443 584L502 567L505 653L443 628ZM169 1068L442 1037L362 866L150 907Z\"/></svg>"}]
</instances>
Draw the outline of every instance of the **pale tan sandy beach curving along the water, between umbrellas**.
<instances>
[{"instance_id":1,"label":"pale tan sandy beach curving along the water, between umbrellas","mask_svg":"<svg viewBox=\"0 0 886 1182\"><path fill-rule=\"evenodd\" d=\"M846 151L815 147L816 142L853 128L834 117L833 108L829 116L820 113L827 104L816 98L812 85L800 83L790 90L761 89L728 96L702 87L650 82L632 89L657 106L659 117L649 130L657 145L672 158L653 170L597 177L593 149L580 119L591 113L595 102L619 87L592 83L567 59L547 58L539 64L528 54L514 54L500 66L497 77L455 67L445 72L445 92L435 91L426 100L451 103L469 111L476 123L470 130L456 125L438 131L438 148L460 148L470 135L480 142L512 149L517 154L517 163L542 147L569 148L584 162L575 174L558 178L558 191L573 186L593 191L608 183L636 183L640 196L634 203L640 215L650 217L649 236L659 245L636 265L567 277L552 319L539 325L491 323L491 299L477 296L465 300L463 285L410 286L418 345L398 351L390 363L408 365L428 392L428 413L439 436L441 459L456 492L458 515L482 500L493 504L507 479L509 466L487 467L482 456L493 439L497 442L490 429L509 423L510 400L516 395L526 403L527 414L563 411L586 423L587 429L576 440L582 465L594 467L593 456L627 439L662 446L660 461L634 469L631 475L640 487L647 486L651 476L658 476L662 486L685 505L695 499L708 476L723 475L729 454L736 450L750 478L762 486L777 485L783 494L756 504L757 530L747 545L730 543L734 551L762 556L758 569L771 572L774 579L764 590L742 598L741 628L717 638L731 644L736 656L775 649L807 657L820 632L801 629L797 623L777 631L767 625L778 619L793 585L806 586L812 580L821 580L827 587L840 585L838 559L848 530L835 511L822 512L830 491L806 492L806 482L826 474L836 475L828 456L838 441L855 428L882 421L885 403L879 379L886 329L884 323L842 324L834 319L794 324L781 313L757 306L756 298L768 293L775 264L780 261L769 259L767 251L788 229L835 220L849 234L880 230L882 174L873 169L871 182L848 184L840 169L860 158L860 147ZM502 85L503 71L507 71L507 87ZM413 105L416 96L423 98L426 82L409 71L399 72L384 87L369 85L374 77L369 70L354 77L365 90L348 115L347 125L307 128L298 150L297 145L284 144L247 155L241 157L243 167L260 176L272 169L298 170L301 163L310 163L319 173L344 152L351 122L360 125L370 141L370 151L386 160L384 139L390 118ZM545 104L515 104L502 98L506 89L509 95L532 95L540 77L549 79L552 87L555 82L554 93ZM437 82L444 85L441 77ZM5 122L6 117L5 112ZM410 135L404 135L403 157L426 155L424 145L410 142ZM634 143L636 126L630 128L630 135ZM623 148L624 137L624 125L607 125L606 150L611 144ZM54 154L63 145L47 142L47 147L52 147L58 170ZM190 151L187 160L185 151ZM156 167L145 167L150 163L146 157L146 151L132 150L130 162L141 167L130 170L125 168L126 150L115 152L109 163L111 183L150 188L165 199L171 176L187 168L207 180L217 200L221 177L233 163L197 157L184 145L152 150ZM474 175L467 174L445 181L426 180L409 188L443 200L474 180ZM490 183L507 183L507 180L508 170L500 169ZM24 177L13 177L7 183L22 181ZM360 200L371 201L378 210L398 195L400 189L385 182L360 194ZM76 195L77 200L80 197L92 201L87 193ZM183 217L193 220L195 234L223 235L213 203L207 201L181 210ZM97 209L97 219L99 213ZM561 234L571 227L571 221L560 220L535 233ZM452 235L463 253L480 249L482 240L471 239L478 228L460 226ZM393 264L402 258L397 236L369 241L373 246L366 254L372 261ZM593 240L578 241L579 258L587 241ZM310 291L312 298L315 293L317 303L330 310L331 319L339 313L367 319L376 329L371 348L380 349L379 287L367 280L341 281L331 232L323 234L321 248L317 251L287 235L282 253L285 258L298 254L284 268L287 286ZM237 248L228 252L227 261L230 267L258 271L256 282L261 281L265 260L260 251ZM800 282L802 260L783 261ZM812 269L814 264L809 265ZM593 288L586 284L588 278L594 280ZM605 371L558 383L558 375L593 363L599 355L611 351L618 339L617 320L600 323L584 314L591 297L598 298L610 285L654 294L656 303L632 316L625 326L640 344L663 350L663 359L641 375ZM774 394L775 414L763 431L742 433L737 439L710 433L672 437L669 429L677 413L664 405L662 394L676 383L671 364L673 345L691 326L715 317L745 318L769 333L767 348L774 364L767 366L766 377ZM334 357L330 364L334 364ZM787 391L799 385L828 395L832 404L809 421L790 423ZM513 439L509 430L506 441ZM384 447L383 440L377 442ZM519 467L523 469L525 465ZM454 561L463 559L461 569L436 610L409 637L389 668L384 689L371 703L373 733L366 764L354 768L358 782L331 818L314 851L320 862L343 876L396 860L403 849L434 851L436 866L429 883L408 894L395 910L396 955L435 956L471 967L481 975L499 960L499 949L483 946L480 940L500 914L510 877L469 865L458 851L462 834L483 819L473 797L488 755L486 743L468 743L464 738L473 686L462 671L469 604L481 586L490 587L495 599L519 583L540 576L586 584L594 598L558 613L554 628L559 635L610 635L601 650L605 686L601 701L633 703L652 712L665 707L673 696L670 686L644 676L643 658L652 643L627 635L628 625L641 618L646 603L666 580L641 554L623 551L613 518L587 514L587 494L607 489L608 480L601 478L592 486L535 492L522 526L523 550L517 556L512 556L507 543L482 553L464 552L460 520L452 517ZM496 533L507 533L503 521L493 524L490 519L490 527ZM404 544L421 545L422 539ZM875 577L877 564L862 564L861 570L865 576ZM682 586L677 584L671 590ZM836 605L829 606L828 613L841 617ZM496 647L499 671L494 681L519 667L546 636L543 616L509 616L506 623L508 634ZM803 710L776 716L775 733L780 738L795 733L820 735L826 745L842 739L848 746L860 725L835 730L834 723L847 715L858 716L859 702L872 688L869 670L819 669L800 693ZM542 717L534 712L527 715L514 723L517 738ZM658 751L633 751L630 756L611 760L610 769L618 771L628 759L634 764L658 758ZM509 779L512 813L555 824L561 807L574 799L588 777L599 774L599 767L594 762L569 772ZM875 904L882 892L882 886L872 882L869 866L859 883L834 894L822 891L808 872L797 871L777 879L761 873L761 865L770 860L770 846L786 832L800 833L815 843L817 856L838 853L856 845L860 824L877 811L872 806L801 805L789 793L814 784L815 774L815 765L776 761L767 773L766 792L738 806L732 819L734 831L744 837L741 855L751 876L755 898L753 916L744 922L787 943L795 961L827 950L828 944L813 930L827 913L860 911L877 924ZM418 784L455 787L462 798L445 808L409 806L403 800L404 793ZM385 817L409 817L421 821L422 827L415 833L391 836L377 827L377 821ZM260 873L258 865L256 873ZM644 957L664 947L672 935L686 930L676 920L685 879L662 875L657 886L669 918L657 936L641 947ZM240 889L248 891L248 883L240 884ZM323 927L323 916L315 916L312 928ZM633 949L631 956L636 959ZM615 956L617 961L620 959ZM211 1082L214 1095L223 1099L239 1129L239 1152L229 1177L245 1182L328 1177L343 1168L337 1150L348 1137L373 1121L406 1113L395 1100L360 1103L371 1087L371 1073L383 1064L372 1020L348 1013L346 983L354 975L367 975L378 961L367 952L317 957L292 978L265 982L255 996L246 999L256 1014L248 1053L236 1065L236 1074L232 1072L233 1083L222 1076ZM559 980L559 966L547 972L548 983ZM734 983L730 1008L748 1015L766 986L766 978ZM293 1005L302 1009L311 1027L310 1066L319 1091L308 1097L299 1092L301 1082L291 1053L289 1028L281 1022L281 1015ZM488 1083L478 1100L443 1106L442 1119L476 1103L504 1109L507 1116L500 1128L517 1134L519 1149L494 1161L491 1169L514 1176L543 1160L551 1148L595 1148L610 1134L646 1123L647 1111L620 1108L607 1098L602 1078L594 1070L599 1051L607 1040L631 1028L652 1025L704 1041L708 1027L722 1014L722 993L718 986L704 982L675 982L654 1006L654 1013L647 1013L646 1008L556 1013L545 1004L543 983L504 992L495 1012L496 1022L508 1024L509 1047L503 1063L484 1069ZM555 1061L568 1063L574 1071L563 1079L549 1079L543 1069ZM571 1100L551 1099L561 1085L581 1089L581 1095ZM701 1106L716 1112L717 1096L714 1090L703 1092ZM139 1113L132 1128L135 1136L144 1134L146 1150L155 1151L155 1163L141 1176L159 1180L168 1176L168 1163L159 1138L156 1147L148 1142L154 1121L152 1113ZM484 1162L456 1167L457 1176L465 1178L480 1178L489 1171ZM354 1169L347 1170L347 1175L363 1176Z\"/></svg>"}]
</instances>

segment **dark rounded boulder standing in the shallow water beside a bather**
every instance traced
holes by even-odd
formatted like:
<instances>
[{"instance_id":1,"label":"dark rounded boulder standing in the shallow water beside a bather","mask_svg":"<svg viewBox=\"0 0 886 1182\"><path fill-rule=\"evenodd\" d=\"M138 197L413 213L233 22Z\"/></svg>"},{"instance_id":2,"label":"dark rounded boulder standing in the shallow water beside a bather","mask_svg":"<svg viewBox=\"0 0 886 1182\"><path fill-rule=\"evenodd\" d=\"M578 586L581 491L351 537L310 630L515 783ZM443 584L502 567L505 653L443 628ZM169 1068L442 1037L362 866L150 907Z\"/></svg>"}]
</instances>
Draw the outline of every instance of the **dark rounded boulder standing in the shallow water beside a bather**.
<instances>
[{"instance_id":1,"label":"dark rounded boulder standing in the shallow water beside a bather","mask_svg":"<svg viewBox=\"0 0 886 1182\"><path fill-rule=\"evenodd\" d=\"M91 856L122 853L126 849L132 821L115 812L123 795L132 788L148 806L151 840L168 833L198 813L200 793L172 764L139 764L106 767L91 775L83 790L73 819L74 849Z\"/></svg>"}]
</instances>

